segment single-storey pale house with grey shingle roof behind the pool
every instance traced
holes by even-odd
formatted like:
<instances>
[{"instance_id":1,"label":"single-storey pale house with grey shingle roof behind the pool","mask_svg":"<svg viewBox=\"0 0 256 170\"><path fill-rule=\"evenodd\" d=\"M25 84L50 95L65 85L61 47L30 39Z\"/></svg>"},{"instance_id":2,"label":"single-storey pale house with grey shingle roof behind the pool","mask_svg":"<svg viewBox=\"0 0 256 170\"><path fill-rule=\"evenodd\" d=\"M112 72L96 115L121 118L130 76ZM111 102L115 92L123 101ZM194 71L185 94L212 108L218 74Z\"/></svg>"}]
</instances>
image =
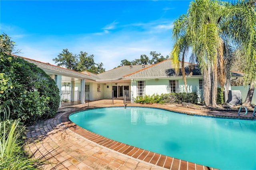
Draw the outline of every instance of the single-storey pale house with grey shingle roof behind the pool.
<instances>
[{"instance_id":1,"label":"single-storey pale house with grey shingle roof behind the pool","mask_svg":"<svg viewBox=\"0 0 256 170\"><path fill-rule=\"evenodd\" d=\"M20 56L18 56L20 57ZM176 74L170 59L153 65L124 65L94 74L76 72L49 63L22 57L43 69L62 91L62 101L131 100L137 96L176 92L196 92L203 99L203 76L198 65L185 63L186 87L182 74ZM181 67L181 64L180 64ZM242 74L232 73L232 77ZM186 89L185 89L186 88ZM81 100L84 99L84 100Z\"/></svg>"}]
</instances>

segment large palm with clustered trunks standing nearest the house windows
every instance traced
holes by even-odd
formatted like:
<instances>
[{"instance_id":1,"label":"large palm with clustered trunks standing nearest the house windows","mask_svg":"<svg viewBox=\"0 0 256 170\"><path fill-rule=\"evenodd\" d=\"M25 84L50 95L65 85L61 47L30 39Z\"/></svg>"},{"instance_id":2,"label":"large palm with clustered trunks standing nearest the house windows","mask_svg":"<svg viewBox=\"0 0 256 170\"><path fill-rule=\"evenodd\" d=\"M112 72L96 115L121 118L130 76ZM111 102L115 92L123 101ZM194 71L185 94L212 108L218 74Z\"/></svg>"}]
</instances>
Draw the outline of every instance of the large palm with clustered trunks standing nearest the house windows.
<instances>
[{"instance_id":1,"label":"large palm with clustered trunks standing nearest the house windows","mask_svg":"<svg viewBox=\"0 0 256 170\"><path fill-rule=\"evenodd\" d=\"M232 61L232 50L221 28L226 6L217 0L195 0L186 15L174 22L174 48L170 54L175 70L190 49L190 61L198 63L204 76L204 104L216 107L217 84L224 87ZM227 40L227 39L226 39ZM182 68L183 70L184 68ZM183 78L185 78L183 74Z\"/></svg>"}]
</instances>

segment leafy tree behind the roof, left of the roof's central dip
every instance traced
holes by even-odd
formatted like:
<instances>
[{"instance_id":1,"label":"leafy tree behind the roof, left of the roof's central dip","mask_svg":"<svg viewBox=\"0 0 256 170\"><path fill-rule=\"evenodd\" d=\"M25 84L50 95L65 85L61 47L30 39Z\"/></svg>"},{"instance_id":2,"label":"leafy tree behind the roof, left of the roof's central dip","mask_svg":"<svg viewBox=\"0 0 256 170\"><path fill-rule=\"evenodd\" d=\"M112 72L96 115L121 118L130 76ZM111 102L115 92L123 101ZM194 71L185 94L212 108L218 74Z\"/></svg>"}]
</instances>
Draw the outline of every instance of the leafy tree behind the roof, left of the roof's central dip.
<instances>
[{"instance_id":1,"label":"leafy tree behind the roof, left of the roof's central dip","mask_svg":"<svg viewBox=\"0 0 256 170\"><path fill-rule=\"evenodd\" d=\"M70 53L68 49L63 49L58 57L52 59L58 66L66 67L74 71L89 71L91 73L102 73L105 71L103 63L95 63L94 55L80 51L78 55Z\"/></svg>"}]
</instances>

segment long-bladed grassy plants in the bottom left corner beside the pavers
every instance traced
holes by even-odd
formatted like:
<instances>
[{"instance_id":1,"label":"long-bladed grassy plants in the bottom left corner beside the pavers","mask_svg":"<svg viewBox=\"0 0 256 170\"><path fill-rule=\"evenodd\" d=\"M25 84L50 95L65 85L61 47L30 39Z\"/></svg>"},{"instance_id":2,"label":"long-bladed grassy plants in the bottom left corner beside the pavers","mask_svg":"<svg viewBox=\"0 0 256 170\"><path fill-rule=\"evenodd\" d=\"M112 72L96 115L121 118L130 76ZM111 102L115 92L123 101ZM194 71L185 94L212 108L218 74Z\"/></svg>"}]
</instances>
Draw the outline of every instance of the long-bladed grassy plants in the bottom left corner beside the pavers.
<instances>
[{"instance_id":1,"label":"long-bladed grassy plants in the bottom left corner beside the pavers","mask_svg":"<svg viewBox=\"0 0 256 170\"><path fill-rule=\"evenodd\" d=\"M36 170L42 163L37 159L30 159L22 149L22 138L25 127L20 125L20 119L8 119L9 104L12 101L2 102L0 107L0 169L4 170Z\"/></svg>"}]
</instances>

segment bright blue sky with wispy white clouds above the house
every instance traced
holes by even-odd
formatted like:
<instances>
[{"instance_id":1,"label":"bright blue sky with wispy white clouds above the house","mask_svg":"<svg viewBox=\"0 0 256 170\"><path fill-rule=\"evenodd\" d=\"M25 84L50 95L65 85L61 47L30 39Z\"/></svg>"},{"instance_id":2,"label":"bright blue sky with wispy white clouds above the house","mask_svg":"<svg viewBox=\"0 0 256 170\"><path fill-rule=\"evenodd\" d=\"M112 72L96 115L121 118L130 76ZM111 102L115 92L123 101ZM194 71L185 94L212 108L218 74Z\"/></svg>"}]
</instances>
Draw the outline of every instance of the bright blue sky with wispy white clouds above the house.
<instances>
[{"instance_id":1,"label":"bright blue sky with wispy white clouds above the house","mask_svg":"<svg viewBox=\"0 0 256 170\"><path fill-rule=\"evenodd\" d=\"M94 55L106 70L156 51L172 50L172 23L185 14L188 0L0 1L0 32L23 57L46 63L62 49Z\"/></svg>"}]
</instances>

